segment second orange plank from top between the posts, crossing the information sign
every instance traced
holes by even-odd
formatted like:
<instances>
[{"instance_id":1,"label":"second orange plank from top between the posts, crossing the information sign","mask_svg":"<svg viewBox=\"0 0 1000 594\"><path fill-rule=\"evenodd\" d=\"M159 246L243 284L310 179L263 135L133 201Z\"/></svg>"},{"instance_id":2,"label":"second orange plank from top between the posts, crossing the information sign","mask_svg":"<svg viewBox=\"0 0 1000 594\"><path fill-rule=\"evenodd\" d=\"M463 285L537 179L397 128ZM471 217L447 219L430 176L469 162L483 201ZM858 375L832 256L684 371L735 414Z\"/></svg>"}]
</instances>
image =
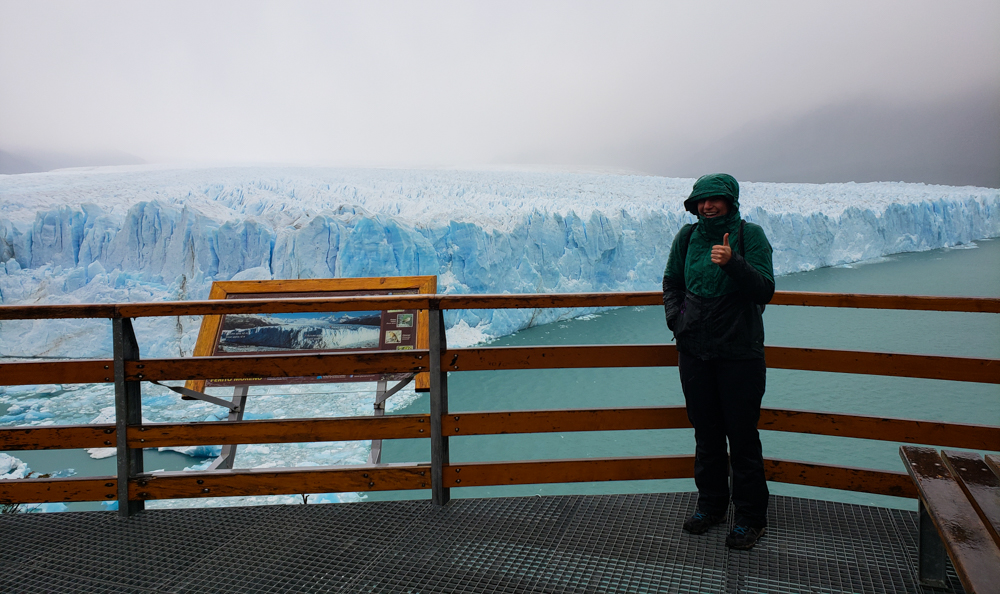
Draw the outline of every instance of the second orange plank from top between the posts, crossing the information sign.
<instances>
[{"instance_id":1,"label":"second orange plank from top between the posts, crossing the information sign","mask_svg":"<svg viewBox=\"0 0 1000 594\"><path fill-rule=\"evenodd\" d=\"M143 359L125 363L126 381L303 377L427 371L427 351Z\"/></svg>"}]
</instances>

